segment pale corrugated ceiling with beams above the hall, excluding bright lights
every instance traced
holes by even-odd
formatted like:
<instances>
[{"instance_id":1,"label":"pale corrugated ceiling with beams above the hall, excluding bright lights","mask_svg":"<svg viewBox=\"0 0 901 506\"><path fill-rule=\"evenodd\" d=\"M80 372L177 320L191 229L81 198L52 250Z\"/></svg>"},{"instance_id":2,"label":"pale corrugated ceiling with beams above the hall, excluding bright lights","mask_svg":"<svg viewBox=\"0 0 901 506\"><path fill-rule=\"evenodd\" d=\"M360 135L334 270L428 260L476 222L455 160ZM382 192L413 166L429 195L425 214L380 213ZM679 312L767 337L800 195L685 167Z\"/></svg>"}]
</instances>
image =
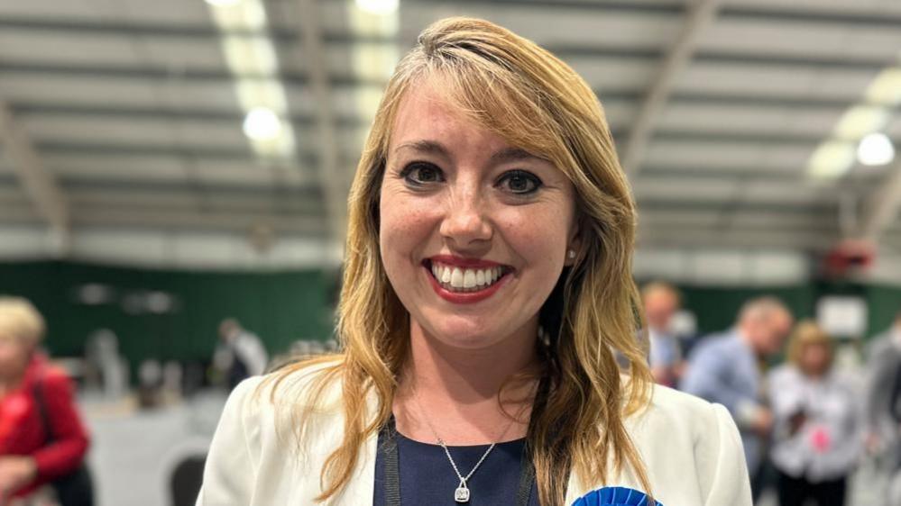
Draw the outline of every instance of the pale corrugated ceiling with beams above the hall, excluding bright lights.
<instances>
[{"instance_id":1,"label":"pale corrugated ceiling with beams above the hall, excluding bright lights","mask_svg":"<svg viewBox=\"0 0 901 506\"><path fill-rule=\"evenodd\" d=\"M874 79L901 67L901 3L698 5L403 0L399 31L384 35L354 28L348 0L267 0L296 145L276 164L244 136L203 2L0 0L0 113L15 133L0 145L0 225L265 226L336 240L370 121L360 97L384 86L354 51L402 53L428 23L468 14L537 41L596 90L639 202L641 247L823 250L866 232L901 252L901 164L855 163L825 182L807 168L843 115L871 102ZM898 104L876 105L901 148Z\"/></svg>"}]
</instances>

